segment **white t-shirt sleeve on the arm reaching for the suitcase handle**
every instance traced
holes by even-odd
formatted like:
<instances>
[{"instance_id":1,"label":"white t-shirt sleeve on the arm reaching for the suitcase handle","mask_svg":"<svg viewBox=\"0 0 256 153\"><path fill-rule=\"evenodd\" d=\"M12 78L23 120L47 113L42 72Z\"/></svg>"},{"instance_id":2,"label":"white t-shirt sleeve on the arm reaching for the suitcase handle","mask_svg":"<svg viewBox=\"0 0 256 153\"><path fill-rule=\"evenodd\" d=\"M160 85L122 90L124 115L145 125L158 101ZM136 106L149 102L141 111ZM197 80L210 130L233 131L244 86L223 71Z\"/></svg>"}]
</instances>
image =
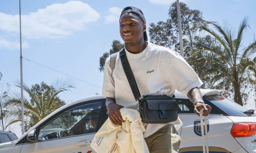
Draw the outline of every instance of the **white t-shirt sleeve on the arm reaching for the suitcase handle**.
<instances>
[{"instance_id":1,"label":"white t-shirt sleeve on the arm reaching for the suitcase handle","mask_svg":"<svg viewBox=\"0 0 256 153\"><path fill-rule=\"evenodd\" d=\"M203 84L194 69L181 55L175 52L170 59L167 73L171 84L177 91L187 95L189 90L200 87Z\"/></svg>"}]
</instances>

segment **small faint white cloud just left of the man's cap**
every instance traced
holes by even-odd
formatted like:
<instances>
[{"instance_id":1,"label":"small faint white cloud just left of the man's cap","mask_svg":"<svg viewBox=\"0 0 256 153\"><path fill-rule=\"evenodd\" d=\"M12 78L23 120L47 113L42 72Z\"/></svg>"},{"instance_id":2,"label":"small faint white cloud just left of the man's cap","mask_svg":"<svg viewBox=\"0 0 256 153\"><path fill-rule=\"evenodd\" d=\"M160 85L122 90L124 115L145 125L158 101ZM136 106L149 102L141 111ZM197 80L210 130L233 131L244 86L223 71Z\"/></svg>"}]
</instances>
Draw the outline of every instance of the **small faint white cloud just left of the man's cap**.
<instances>
[{"instance_id":1,"label":"small faint white cloud just left of the man's cap","mask_svg":"<svg viewBox=\"0 0 256 153\"><path fill-rule=\"evenodd\" d=\"M122 9L119 7L111 7L108 9L108 15L105 16L106 23L119 23L119 17Z\"/></svg>"}]
</instances>

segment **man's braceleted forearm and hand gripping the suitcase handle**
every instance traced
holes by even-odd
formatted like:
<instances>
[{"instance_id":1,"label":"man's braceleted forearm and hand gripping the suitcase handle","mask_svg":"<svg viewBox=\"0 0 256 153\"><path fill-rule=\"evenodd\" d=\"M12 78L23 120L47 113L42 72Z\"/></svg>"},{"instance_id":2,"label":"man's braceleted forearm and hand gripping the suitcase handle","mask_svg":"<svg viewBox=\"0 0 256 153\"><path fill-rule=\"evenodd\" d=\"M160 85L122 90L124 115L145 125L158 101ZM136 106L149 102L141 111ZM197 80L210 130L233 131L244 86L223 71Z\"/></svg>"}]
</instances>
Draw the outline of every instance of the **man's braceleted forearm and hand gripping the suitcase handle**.
<instances>
[{"instance_id":1,"label":"man's braceleted forearm and hand gripping the suitcase handle","mask_svg":"<svg viewBox=\"0 0 256 153\"><path fill-rule=\"evenodd\" d=\"M199 115L199 111L204 108L204 114L203 116L208 116L208 114L211 112L212 107L204 104L204 103L200 103L200 102L204 102L203 98L202 98L202 94L201 91L199 90L198 87L192 88L191 90L188 91L187 94L188 99L194 104L195 108L194 108L194 112ZM200 102L196 102L196 101L200 101Z\"/></svg>"}]
</instances>

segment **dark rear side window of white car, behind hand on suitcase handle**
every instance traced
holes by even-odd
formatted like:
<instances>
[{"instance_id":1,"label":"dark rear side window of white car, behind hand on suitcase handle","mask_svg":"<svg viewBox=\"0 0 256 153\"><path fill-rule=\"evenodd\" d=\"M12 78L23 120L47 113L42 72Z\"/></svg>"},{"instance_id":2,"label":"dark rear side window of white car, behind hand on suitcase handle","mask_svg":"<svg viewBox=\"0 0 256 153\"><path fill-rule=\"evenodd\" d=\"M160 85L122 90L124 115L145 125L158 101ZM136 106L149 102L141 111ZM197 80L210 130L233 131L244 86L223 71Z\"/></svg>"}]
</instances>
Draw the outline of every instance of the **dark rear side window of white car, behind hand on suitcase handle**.
<instances>
[{"instance_id":1,"label":"dark rear side window of white car, behind hand on suitcase handle","mask_svg":"<svg viewBox=\"0 0 256 153\"><path fill-rule=\"evenodd\" d=\"M194 105L189 99L176 99L178 104L178 113L195 113L194 112ZM207 103L207 102L205 102ZM211 104L209 104L211 106ZM212 108L210 114L221 114L216 109Z\"/></svg>"}]
</instances>

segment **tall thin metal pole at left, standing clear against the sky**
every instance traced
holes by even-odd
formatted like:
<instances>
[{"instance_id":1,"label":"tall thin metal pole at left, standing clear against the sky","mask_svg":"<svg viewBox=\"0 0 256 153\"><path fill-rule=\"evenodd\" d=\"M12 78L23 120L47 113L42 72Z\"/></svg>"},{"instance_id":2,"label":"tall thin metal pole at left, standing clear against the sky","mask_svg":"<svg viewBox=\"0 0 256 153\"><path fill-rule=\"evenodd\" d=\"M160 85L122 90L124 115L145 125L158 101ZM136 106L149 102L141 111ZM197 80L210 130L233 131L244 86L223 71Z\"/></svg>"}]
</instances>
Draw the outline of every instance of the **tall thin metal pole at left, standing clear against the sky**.
<instances>
[{"instance_id":1,"label":"tall thin metal pole at left, standing clear against the sky","mask_svg":"<svg viewBox=\"0 0 256 153\"><path fill-rule=\"evenodd\" d=\"M22 51L21 51L21 18L20 18L20 95L21 95L21 127L22 127L22 135L23 135L25 128L24 128L23 72L22 72Z\"/></svg>"}]
</instances>

